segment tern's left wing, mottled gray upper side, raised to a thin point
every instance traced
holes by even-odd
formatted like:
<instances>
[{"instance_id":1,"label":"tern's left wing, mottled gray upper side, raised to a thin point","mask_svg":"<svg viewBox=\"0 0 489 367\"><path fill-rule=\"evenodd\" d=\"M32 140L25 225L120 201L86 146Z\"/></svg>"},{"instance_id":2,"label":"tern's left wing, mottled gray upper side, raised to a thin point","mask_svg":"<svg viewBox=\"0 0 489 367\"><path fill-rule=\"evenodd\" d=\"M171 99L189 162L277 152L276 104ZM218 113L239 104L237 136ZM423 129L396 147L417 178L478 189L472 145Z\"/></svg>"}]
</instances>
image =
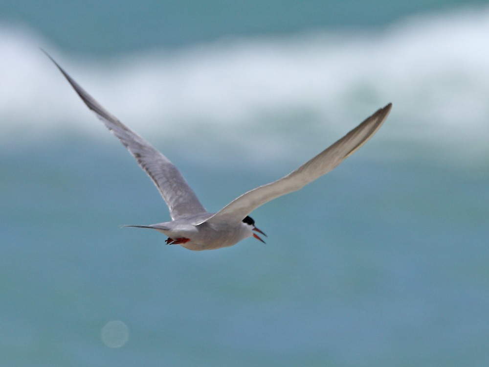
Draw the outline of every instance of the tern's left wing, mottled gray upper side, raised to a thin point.
<instances>
[{"instance_id":1,"label":"tern's left wing, mottled gray upper side, raised to a thin point","mask_svg":"<svg viewBox=\"0 0 489 367\"><path fill-rule=\"evenodd\" d=\"M46 53L44 51L44 53ZM161 196L170 210L172 219L182 215L205 212L194 191L187 184L177 167L164 155L158 152L150 143L134 133L115 116L106 111L89 93L78 85L65 70L47 53L46 55L58 67L67 81L90 110L95 112L105 126L124 144L131 152L139 166L146 171L153 180Z\"/></svg>"}]
</instances>

